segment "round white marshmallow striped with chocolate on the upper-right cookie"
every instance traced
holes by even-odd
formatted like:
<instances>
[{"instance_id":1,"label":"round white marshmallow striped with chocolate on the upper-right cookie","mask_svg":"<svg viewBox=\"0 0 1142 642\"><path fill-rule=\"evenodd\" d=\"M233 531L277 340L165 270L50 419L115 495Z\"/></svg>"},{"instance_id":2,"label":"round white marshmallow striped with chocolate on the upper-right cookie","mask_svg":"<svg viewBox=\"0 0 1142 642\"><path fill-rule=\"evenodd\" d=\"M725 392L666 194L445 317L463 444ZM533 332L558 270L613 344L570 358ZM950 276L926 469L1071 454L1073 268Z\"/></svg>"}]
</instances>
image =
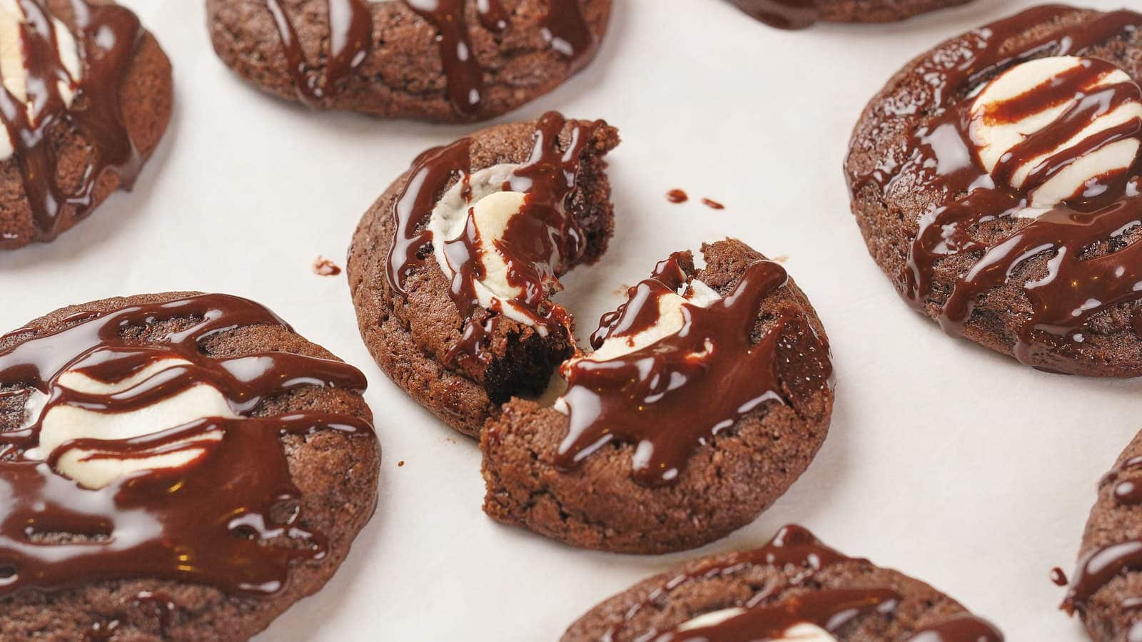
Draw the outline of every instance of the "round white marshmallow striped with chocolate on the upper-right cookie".
<instances>
[{"instance_id":1,"label":"round white marshmallow striped with chocolate on the upper-right cookie","mask_svg":"<svg viewBox=\"0 0 1142 642\"><path fill-rule=\"evenodd\" d=\"M1088 105L1102 106L1096 118L1055 149L1022 162L1012 174L1012 187L1022 188L1031 172L1044 161L1068 150L1076 150L1092 136L1132 120L1142 123L1142 103L1131 99L1111 110L1107 104L1109 91L1100 91L1115 85L1133 82L1126 72L1118 69L1101 75L1092 74L1092 81L1071 99L1047 105L1019 122L991 122L992 119L988 118L988 113L1004 102L1023 96L1036 88L1043 90L1042 87L1048 86L1061 74L1089 65L1104 66L1107 63L1075 56L1039 58L1016 65L991 80L976 96L971 110L971 138L983 168L989 172L995 171L996 166L1008 152L1032 135L1056 123L1067 112L1079 105L1080 101ZM1043 185L1036 186L1029 194L1030 207L1049 208L1067 199L1081 195L1092 179L1133 166L1140 146L1142 143L1134 137L1083 154Z\"/></svg>"}]
</instances>

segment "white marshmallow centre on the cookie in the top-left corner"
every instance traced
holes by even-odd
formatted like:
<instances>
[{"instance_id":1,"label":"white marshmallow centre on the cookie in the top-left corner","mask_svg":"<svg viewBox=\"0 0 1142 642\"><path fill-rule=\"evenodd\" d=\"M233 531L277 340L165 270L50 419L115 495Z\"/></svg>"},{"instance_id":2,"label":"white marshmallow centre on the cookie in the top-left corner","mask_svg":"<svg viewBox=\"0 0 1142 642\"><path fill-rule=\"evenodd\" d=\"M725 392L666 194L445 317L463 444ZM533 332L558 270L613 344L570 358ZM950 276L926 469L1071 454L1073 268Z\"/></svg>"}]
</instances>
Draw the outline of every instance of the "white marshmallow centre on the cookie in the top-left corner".
<instances>
[{"instance_id":1,"label":"white marshmallow centre on the cookie in the top-left corner","mask_svg":"<svg viewBox=\"0 0 1142 642\"><path fill-rule=\"evenodd\" d=\"M0 0L0 75L3 87L21 103L27 103L27 61L24 57L24 37L21 24L25 22L24 10L17 0ZM79 47L67 25L58 18L51 18L56 35L56 50L70 81L59 81L59 97L70 107L75 99L75 88L82 74ZM30 106L29 106L30 109ZM0 160L15 153L11 136L6 128L0 128Z\"/></svg>"}]
</instances>

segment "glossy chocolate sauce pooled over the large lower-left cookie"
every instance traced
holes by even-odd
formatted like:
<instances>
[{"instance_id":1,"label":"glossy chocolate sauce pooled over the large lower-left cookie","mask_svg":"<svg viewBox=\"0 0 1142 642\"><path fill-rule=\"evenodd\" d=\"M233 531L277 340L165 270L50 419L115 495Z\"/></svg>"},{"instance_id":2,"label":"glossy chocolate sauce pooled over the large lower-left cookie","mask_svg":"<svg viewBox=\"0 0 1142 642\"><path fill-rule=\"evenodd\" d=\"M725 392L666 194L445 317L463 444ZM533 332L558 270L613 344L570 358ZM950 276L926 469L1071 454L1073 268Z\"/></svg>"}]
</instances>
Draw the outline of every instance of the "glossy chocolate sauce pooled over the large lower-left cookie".
<instances>
[{"instance_id":1,"label":"glossy chocolate sauce pooled over the large lower-left cookie","mask_svg":"<svg viewBox=\"0 0 1142 642\"><path fill-rule=\"evenodd\" d=\"M160 343L130 338L150 324L188 319L192 324ZM51 591L87 583L159 578L198 583L251 596L281 591L290 564L320 560L324 537L305 527L280 439L337 431L376 439L352 416L295 412L263 416L262 401L292 390L332 386L362 391L364 376L339 361L267 352L212 359L202 343L247 326L289 328L260 305L225 295L200 295L106 313L80 313L69 326L34 336L0 353L0 399L46 406L30 425L0 433L0 595ZM17 330L9 336L26 334ZM65 372L112 384L170 360L167 369L126 391L79 392L59 384ZM43 458L43 418L63 407L115 414L151 407L208 385L236 418L203 417L155 426L130 439L72 439ZM128 474L99 489L56 470L61 458L131 459L199 451L188 463ZM166 600L156 600L160 619Z\"/></svg>"}]
</instances>

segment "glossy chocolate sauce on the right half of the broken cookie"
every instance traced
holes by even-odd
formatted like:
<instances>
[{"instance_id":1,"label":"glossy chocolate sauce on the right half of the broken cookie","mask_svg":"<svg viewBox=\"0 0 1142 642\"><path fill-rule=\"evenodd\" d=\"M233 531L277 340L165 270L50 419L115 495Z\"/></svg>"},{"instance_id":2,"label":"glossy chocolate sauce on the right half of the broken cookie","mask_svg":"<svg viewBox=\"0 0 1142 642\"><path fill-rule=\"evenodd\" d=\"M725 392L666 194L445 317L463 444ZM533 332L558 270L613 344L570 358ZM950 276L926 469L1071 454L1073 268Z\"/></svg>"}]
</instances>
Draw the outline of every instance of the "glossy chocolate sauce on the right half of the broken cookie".
<instances>
[{"instance_id":1,"label":"glossy chocolate sauce on the right half of the broken cookie","mask_svg":"<svg viewBox=\"0 0 1142 642\"><path fill-rule=\"evenodd\" d=\"M652 328L659 299L677 292L692 272L689 255L659 263L650 279L628 291L626 304L603 315L592 346L598 350L604 339L624 337L632 342L629 337ZM764 335L753 337L762 302L787 280L780 265L756 262L725 298L709 307L683 304L681 331L619 358L564 364L569 428L555 464L570 470L612 441L636 443L635 481L668 484L695 448L762 404L785 403L777 374L779 345L787 332L812 330L794 311L782 310ZM827 361L827 346L812 338Z\"/></svg>"}]
</instances>

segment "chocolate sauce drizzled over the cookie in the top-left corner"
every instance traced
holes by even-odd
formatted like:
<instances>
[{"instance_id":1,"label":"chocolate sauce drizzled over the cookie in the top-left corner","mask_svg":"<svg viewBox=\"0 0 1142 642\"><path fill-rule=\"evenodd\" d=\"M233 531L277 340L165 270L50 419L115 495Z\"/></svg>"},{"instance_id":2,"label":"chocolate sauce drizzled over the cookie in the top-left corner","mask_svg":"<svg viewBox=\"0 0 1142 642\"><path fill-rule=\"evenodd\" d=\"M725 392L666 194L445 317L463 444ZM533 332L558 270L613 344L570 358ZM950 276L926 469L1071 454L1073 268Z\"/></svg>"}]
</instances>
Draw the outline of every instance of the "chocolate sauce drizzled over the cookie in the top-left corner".
<instances>
[{"instance_id":1,"label":"chocolate sauce drizzled over the cookie in the top-left corner","mask_svg":"<svg viewBox=\"0 0 1142 642\"><path fill-rule=\"evenodd\" d=\"M11 139L24 194L32 210L34 239L50 241L72 222L91 212L95 188L107 172L130 190L143 159L123 121L119 90L143 37L138 18L115 5L72 0L74 40L82 75L67 73L57 48L56 24L43 0L19 0L25 21L19 25L27 73L27 102L0 86L0 120ZM69 109L59 83L74 90ZM95 160L75 185L57 176L61 131L78 131ZM0 247L3 246L0 240Z\"/></svg>"}]
</instances>

